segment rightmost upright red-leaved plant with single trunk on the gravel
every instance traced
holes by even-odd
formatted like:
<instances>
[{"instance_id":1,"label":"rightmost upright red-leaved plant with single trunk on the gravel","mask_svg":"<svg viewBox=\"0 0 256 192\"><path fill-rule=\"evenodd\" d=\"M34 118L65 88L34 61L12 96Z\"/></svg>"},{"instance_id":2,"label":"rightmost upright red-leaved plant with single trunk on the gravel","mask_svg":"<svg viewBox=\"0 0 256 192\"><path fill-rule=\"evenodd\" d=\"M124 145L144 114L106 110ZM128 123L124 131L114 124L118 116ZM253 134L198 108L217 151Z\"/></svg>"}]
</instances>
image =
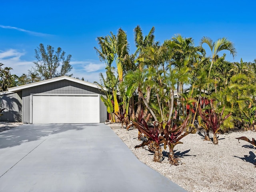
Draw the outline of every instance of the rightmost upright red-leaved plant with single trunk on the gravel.
<instances>
[{"instance_id":1,"label":"rightmost upright red-leaved plant with single trunk on the gravel","mask_svg":"<svg viewBox=\"0 0 256 192\"><path fill-rule=\"evenodd\" d=\"M222 118L224 109L225 109L225 106L223 107L222 112L219 114L217 114L213 110L210 110L210 113L206 114L202 112L200 105L198 106L198 112L200 114L200 117L202 118L202 121L206 124L207 129L209 130L210 128L213 132L214 144L218 144L217 133L219 133L218 131L220 130L220 125L224 122L224 120L226 120L226 118L228 118L231 115L230 113Z\"/></svg>"}]
</instances>

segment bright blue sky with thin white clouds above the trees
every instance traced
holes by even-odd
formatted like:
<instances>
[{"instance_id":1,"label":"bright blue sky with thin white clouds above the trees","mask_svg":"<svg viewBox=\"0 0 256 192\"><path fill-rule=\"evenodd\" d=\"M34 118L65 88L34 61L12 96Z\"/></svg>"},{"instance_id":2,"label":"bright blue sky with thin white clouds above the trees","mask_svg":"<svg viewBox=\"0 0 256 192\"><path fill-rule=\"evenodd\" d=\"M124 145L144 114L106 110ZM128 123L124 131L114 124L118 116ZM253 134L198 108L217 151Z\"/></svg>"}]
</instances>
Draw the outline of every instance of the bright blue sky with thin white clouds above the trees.
<instances>
[{"instance_id":1,"label":"bright blue sky with thin white clouds above the trees","mask_svg":"<svg viewBox=\"0 0 256 192\"><path fill-rule=\"evenodd\" d=\"M135 51L133 29L144 34L154 26L155 40L164 42L174 34L192 37L196 45L202 36L214 41L226 37L238 52L229 61L256 58L256 15L254 0L215 1L20 1L0 2L0 62L12 67L12 74L27 74L33 65L34 49L40 43L62 48L71 54L73 76L99 81L104 72L94 46L96 38L118 28L126 31L130 52ZM209 50L206 52L210 55ZM224 53L224 52L223 52Z\"/></svg>"}]
</instances>

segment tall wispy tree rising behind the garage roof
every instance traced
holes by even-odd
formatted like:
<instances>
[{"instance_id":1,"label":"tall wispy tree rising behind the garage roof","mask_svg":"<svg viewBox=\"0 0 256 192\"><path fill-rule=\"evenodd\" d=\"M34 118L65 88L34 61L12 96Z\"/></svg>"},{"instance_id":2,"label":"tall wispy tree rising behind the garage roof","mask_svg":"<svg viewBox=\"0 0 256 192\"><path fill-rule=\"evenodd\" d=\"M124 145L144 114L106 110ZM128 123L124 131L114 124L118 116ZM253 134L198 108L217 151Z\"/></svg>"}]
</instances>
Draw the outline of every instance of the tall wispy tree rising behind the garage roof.
<instances>
[{"instance_id":1,"label":"tall wispy tree rising behind the garage roof","mask_svg":"<svg viewBox=\"0 0 256 192\"><path fill-rule=\"evenodd\" d=\"M51 79L59 76L72 76L68 74L72 70L70 65L71 55L65 58L65 52L59 47L54 52L54 48L50 45L44 48L41 43L35 49L35 58L37 61L33 62L31 73L39 75L42 80ZM58 71L60 67L60 71Z\"/></svg>"}]
</instances>

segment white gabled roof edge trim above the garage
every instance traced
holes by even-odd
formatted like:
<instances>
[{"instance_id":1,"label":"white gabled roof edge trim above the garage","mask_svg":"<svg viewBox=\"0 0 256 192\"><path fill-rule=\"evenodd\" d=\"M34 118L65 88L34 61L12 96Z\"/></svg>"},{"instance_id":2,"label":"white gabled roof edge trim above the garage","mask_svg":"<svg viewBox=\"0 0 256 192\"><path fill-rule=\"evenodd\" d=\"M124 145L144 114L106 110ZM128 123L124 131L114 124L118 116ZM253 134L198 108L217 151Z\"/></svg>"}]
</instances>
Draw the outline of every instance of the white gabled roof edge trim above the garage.
<instances>
[{"instance_id":1,"label":"white gabled roof edge trim above the garage","mask_svg":"<svg viewBox=\"0 0 256 192\"><path fill-rule=\"evenodd\" d=\"M21 85L21 86L17 86L17 87L12 87L12 88L8 88L9 92L16 92L16 91L20 91L26 88L30 88L30 87L35 87L35 86L39 86L39 85L44 85L44 84L48 84L48 83L52 83L52 82L57 82L57 81L61 81L61 80L68 80L68 81L72 81L72 82L76 82L82 85L86 85L86 86L90 86L93 88L99 88L98 85L90 83L90 82L86 82L83 80L79 80L76 78L72 78L72 77L68 77L68 76L61 76L61 77L56 77L56 78L52 78L52 79L48 79L48 80L44 80L44 81L39 81L39 82L35 82L35 83L30 83L30 84L26 84L26 85Z\"/></svg>"}]
</instances>

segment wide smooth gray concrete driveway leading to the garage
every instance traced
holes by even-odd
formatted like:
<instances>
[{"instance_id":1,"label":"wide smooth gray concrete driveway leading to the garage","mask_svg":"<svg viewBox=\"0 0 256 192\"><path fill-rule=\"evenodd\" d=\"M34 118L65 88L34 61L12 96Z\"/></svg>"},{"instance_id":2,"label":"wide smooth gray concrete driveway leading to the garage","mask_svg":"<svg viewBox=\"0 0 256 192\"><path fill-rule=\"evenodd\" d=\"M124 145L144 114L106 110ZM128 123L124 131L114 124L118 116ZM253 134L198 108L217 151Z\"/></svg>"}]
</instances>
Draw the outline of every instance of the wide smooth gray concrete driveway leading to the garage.
<instances>
[{"instance_id":1,"label":"wide smooth gray concrete driveway leading to the garage","mask_svg":"<svg viewBox=\"0 0 256 192\"><path fill-rule=\"evenodd\" d=\"M184 192L104 124L24 124L0 132L0 192Z\"/></svg>"}]
</instances>

